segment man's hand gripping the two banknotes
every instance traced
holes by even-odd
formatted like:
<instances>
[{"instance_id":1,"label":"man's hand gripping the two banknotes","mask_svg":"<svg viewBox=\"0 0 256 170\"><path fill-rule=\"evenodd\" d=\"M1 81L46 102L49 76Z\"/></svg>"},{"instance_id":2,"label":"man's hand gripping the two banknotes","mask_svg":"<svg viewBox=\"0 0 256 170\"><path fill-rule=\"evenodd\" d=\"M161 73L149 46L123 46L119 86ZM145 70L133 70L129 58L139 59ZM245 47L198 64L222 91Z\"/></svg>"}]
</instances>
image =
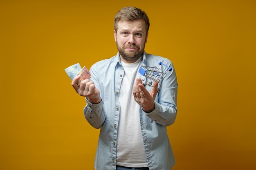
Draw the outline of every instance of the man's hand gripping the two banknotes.
<instances>
[{"instance_id":1,"label":"man's hand gripping the two banknotes","mask_svg":"<svg viewBox=\"0 0 256 170\"><path fill-rule=\"evenodd\" d=\"M80 86L77 84L80 79L80 75L77 75L72 80L71 85L75 89L76 93L81 96L87 97L88 102L92 104L98 104L101 102L101 96L99 90L95 88L94 82L90 81L90 79L85 79L80 83Z\"/></svg>"}]
</instances>

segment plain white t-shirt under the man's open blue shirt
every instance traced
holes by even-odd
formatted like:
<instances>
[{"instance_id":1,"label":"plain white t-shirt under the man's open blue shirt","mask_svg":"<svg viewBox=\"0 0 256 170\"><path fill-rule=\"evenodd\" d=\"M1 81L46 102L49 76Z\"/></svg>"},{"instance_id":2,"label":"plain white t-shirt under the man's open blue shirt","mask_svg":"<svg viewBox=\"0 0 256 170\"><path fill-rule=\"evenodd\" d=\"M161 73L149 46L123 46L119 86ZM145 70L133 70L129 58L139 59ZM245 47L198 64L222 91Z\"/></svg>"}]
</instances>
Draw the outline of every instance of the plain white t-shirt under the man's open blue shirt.
<instances>
[{"instance_id":1,"label":"plain white t-shirt under the man's open blue shirt","mask_svg":"<svg viewBox=\"0 0 256 170\"><path fill-rule=\"evenodd\" d=\"M117 130L117 165L126 167L147 167L145 149L142 139L139 104L135 102L132 89L139 77L139 63L121 62L124 77L119 95L120 115Z\"/></svg>"}]
</instances>

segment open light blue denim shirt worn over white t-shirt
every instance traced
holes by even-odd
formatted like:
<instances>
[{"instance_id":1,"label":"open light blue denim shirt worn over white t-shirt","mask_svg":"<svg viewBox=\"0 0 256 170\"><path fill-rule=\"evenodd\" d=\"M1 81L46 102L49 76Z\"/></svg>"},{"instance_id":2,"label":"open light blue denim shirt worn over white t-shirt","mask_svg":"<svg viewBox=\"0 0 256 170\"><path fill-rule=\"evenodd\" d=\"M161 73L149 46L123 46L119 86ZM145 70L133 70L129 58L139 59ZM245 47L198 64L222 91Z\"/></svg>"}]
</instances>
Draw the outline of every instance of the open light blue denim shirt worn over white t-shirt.
<instances>
[{"instance_id":1,"label":"open light blue denim shirt worn over white t-shirt","mask_svg":"<svg viewBox=\"0 0 256 170\"><path fill-rule=\"evenodd\" d=\"M145 51L140 64L157 66L160 61L173 68L167 58L147 54ZM93 64L90 73L91 81L99 89L102 99L99 104L92 104L86 99L87 105L84 108L85 118L90 125L101 128L94 167L95 170L116 170L119 91L124 77L119 53ZM143 75L141 79L144 79ZM155 98L155 110L146 113L140 108L141 132L149 170L171 170L175 164L166 129L166 126L174 123L177 114L178 84L174 68L161 84L162 88ZM145 87L148 91L153 88Z\"/></svg>"}]
</instances>

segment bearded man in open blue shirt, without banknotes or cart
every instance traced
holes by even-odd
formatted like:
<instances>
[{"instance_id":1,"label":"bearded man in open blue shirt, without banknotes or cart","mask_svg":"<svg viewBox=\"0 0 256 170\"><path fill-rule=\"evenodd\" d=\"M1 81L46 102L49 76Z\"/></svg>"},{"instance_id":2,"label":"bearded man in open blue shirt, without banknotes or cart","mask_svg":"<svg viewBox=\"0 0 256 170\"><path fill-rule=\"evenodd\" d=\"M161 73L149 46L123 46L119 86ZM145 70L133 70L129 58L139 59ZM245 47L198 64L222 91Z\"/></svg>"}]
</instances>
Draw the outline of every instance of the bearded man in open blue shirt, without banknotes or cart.
<instances>
[{"instance_id":1,"label":"bearded man in open blue shirt, without banknotes or cart","mask_svg":"<svg viewBox=\"0 0 256 170\"><path fill-rule=\"evenodd\" d=\"M116 56L95 63L91 79L78 86L87 105L84 115L101 128L94 167L96 170L171 170L175 164L166 126L177 114L177 79L170 60L147 54L149 20L144 11L125 7L115 15ZM142 84L140 66L163 62L173 68L161 82Z\"/></svg>"}]
</instances>

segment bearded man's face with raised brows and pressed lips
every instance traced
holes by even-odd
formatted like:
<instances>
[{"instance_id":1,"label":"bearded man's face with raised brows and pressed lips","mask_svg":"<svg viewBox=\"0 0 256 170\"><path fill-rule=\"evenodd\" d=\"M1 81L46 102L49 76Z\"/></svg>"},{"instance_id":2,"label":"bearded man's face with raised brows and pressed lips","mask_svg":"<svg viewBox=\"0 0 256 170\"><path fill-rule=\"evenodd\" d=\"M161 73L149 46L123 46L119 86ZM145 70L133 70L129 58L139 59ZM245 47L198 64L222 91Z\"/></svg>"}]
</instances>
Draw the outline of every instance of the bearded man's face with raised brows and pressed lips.
<instances>
[{"instance_id":1,"label":"bearded man's face with raised brows and pressed lips","mask_svg":"<svg viewBox=\"0 0 256 170\"><path fill-rule=\"evenodd\" d=\"M142 20L121 20L117 23L114 36L122 61L132 63L142 56L148 38L145 25Z\"/></svg>"}]
</instances>

